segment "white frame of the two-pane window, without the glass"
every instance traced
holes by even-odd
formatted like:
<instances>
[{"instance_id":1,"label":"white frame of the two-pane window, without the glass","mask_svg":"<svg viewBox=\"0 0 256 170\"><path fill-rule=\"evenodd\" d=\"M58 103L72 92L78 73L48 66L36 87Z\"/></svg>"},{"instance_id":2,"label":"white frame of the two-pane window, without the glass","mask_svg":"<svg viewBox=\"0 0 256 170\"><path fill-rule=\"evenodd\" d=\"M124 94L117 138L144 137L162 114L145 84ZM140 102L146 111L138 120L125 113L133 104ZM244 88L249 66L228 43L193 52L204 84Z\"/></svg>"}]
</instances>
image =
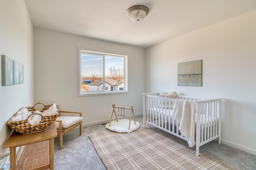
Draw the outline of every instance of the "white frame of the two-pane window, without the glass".
<instances>
[{"instance_id":1,"label":"white frame of the two-pane window, without the glass","mask_svg":"<svg viewBox=\"0 0 256 170\"><path fill-rule=\"evenodd\" d=\"M81 85L81 53L91 53L94 55L112 55L116 57L124 57L124 90L123 91L86 91L82 92L82 85ZM114 94L125 94L128 93L128 56L127 55L118 55L118 54L111 54L111 53L102 53L102 52L96 52L96 51L87 51L83 49L77 49L78 54L78 97L82 96L94 96L94 95L114 95ZM105 59L103 59L103 65L105 65ZM105 66L103 69L103 75L105 73ZM105 84L105 76L103 76L103 87Z\"/></svg>"}]
</instances>

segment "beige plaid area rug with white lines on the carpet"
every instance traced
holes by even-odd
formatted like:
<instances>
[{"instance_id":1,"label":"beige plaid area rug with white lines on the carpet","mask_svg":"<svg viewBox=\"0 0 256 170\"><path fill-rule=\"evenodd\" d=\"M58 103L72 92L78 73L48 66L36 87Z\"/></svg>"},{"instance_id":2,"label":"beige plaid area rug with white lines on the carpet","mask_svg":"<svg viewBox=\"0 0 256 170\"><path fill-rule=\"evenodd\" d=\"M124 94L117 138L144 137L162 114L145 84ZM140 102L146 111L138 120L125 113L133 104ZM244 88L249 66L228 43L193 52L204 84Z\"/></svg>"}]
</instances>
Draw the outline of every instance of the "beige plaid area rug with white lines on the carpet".
<instances>
[{"instance_id":1,"label":"beige plaid area rug with white lines on the carpet","mask_svg":"<svg viewBox=\"0 0 256 170\"><path fill-rule=\"evenodd\" d=\"M106 131L89 136L108 170L234 170L196 152L154 128L130 133Z\"/></svg>"}]
</instances>

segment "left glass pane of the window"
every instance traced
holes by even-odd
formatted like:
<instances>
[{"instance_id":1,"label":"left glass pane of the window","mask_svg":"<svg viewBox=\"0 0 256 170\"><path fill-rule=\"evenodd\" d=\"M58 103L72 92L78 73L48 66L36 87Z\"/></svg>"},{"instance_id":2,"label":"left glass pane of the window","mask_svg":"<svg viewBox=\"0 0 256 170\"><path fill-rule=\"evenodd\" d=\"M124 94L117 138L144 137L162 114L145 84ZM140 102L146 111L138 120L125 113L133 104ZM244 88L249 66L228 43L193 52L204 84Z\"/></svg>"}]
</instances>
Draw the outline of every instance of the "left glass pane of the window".
<instances>
[{"instance_id":1,"label":"left glass pane of the window","mask_svg":"<svg viewBox=\"0 0 256 170\"><path fill-rule=\"evenodd\" d=\"M103 56L81 53L81 91L101 91L102 75Z\"/></svg>"}]
</instances>

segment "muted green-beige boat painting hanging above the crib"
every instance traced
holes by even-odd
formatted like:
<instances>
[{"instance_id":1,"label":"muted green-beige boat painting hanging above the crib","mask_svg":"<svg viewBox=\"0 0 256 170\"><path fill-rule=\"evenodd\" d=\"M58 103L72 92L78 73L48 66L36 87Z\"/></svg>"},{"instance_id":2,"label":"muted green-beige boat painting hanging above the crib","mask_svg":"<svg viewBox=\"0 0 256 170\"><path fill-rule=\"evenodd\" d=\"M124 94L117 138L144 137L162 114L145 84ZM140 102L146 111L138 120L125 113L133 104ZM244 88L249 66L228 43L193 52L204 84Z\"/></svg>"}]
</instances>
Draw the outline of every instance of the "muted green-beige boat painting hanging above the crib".
<instances>
[{"instance_id":1,"label":"muted green-beige boat painting hanging above the crib","mask_svg":"<svg viewBox=\"0 0 256 170\"><path fill-rule=\"evenodd\" d=\"M202 60L178 63L178 86L202 86Z\"/></svg>"}]
</instances>

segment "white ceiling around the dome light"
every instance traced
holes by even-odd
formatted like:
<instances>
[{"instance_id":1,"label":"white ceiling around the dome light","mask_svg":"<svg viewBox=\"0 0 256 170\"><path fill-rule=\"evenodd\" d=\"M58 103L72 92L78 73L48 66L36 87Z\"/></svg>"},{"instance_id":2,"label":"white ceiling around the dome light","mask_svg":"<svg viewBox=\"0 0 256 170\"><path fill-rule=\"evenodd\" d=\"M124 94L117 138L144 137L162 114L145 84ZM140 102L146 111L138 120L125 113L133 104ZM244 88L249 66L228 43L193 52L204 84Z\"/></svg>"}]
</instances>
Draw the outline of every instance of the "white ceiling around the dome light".
<instances>
[{"instance_id":1,"label":"white ceiling around the dome light","mask_svg":"<svg viewBox=\"0 0 256 170\"><path fill-rule=\"evenodd\" d=\"M34 28L139 47L170 40L256 10L256 0L24 0ZM126 11L150 10L141 22Z\"/></svg>"}]
</instances>

